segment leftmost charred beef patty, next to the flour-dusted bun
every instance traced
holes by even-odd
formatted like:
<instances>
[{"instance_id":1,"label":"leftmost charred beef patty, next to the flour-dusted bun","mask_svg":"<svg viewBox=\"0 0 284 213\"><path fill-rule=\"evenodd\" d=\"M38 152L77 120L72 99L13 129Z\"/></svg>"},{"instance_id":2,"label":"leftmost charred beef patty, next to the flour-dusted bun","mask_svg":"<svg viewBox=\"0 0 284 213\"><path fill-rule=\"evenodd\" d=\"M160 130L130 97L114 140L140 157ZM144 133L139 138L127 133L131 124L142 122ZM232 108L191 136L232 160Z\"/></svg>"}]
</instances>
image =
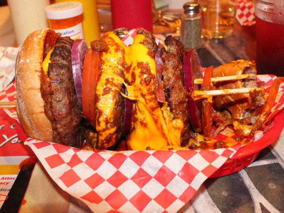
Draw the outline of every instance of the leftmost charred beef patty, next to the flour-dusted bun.
<instances>
[{"instance_id":1,"label":"leftmost charred beef patty, next to the flour-dusted bun","mask_svg":"<svg viewBox=\"0 0 284 213\"><path fill-rule=\"evenodd\" d=\"M46 117L51 121L53 142L81 147L84 128L72 75L73 42L69 37L57 38L48 73L41 75L41 96Z\"/></svg>"}]
</instances>

